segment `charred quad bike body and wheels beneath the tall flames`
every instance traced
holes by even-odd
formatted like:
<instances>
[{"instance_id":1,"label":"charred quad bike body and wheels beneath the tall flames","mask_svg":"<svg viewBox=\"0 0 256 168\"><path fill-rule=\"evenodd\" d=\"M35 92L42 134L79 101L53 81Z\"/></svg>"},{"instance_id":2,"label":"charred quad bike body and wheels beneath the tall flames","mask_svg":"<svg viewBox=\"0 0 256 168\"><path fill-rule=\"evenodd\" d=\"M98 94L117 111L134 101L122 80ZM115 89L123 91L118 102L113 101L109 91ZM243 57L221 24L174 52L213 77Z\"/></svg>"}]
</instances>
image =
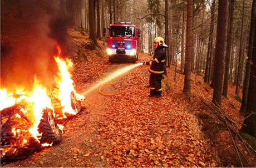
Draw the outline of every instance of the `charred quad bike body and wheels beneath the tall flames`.
<instances>
[{"instance_id":1,"label":"charred quad bike body and wheels beneath the tall flames","mask_svg":"<svg viewBox=\"0 0 256 168\"><path fill-rule=\"evenodd\" d=\"M9 106L0 111L1 115L1 149L0 158L1 164L27 159L35 151L41 151L45 146L56 145L62 140L61 121L63 115L61 110L63 106L60 99L56 96L58 88L53 86L51 89L50 98L53 104L53 109L42 109L42 116L37 126L38 134L32 136L31 129L33 123L29 118L27 108L30 104L23 100L19 103ZM77 114L81 110L82 98L77 97L75 90L71 92L71 107L73 114ZM24 95L14 95L15 98L20 98Z\"/></svg>"}]
</instances>

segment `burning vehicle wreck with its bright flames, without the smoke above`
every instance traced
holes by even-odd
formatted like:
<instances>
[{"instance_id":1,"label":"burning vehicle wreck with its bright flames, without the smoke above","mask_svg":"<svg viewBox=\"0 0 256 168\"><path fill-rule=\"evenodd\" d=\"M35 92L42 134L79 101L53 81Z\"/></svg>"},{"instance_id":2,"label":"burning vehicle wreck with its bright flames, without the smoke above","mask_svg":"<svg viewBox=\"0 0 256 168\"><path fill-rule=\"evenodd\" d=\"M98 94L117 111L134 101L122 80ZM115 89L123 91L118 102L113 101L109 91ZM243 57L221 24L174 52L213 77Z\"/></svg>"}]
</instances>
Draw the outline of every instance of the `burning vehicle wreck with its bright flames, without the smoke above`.
<instances>
[{"instance_id":1,"label":"burning vehicle wreck with its bright flames, without the smoke above","mask_svg":"<svg viewBox=\"0 0 256 168\"><path fill-rule=\"evenodd\" d=\"M58 47L56 84L50 88L35 77L29 91L16 88L16 93L12 94L7 89L0 89L1 164L26 159L45 146L60 143L62 119L81 110L81 101L85 98L74 89L69 72L72 62L60 56Z\"/></svg>"}]
</instances>

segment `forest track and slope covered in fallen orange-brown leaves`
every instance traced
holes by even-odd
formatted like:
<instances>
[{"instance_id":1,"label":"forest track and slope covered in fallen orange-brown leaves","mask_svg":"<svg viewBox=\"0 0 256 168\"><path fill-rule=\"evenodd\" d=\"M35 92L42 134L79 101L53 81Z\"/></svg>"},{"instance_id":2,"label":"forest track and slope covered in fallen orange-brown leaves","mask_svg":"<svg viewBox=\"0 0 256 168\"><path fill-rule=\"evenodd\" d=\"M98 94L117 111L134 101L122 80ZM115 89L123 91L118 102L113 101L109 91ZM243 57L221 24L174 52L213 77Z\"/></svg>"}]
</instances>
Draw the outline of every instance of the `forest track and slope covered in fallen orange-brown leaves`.
<instances>
[{"instance_id":1,"label":"forest track and slope covered in fallen orange-brown leaves","mask_svg":"<svg viewBox=\"0 0 256 168\"><path fill-rule=\"evenodd\" d=\"M109 65L105 53L106 42L99 40L100 48L90 49L87 35L70 30L71 38L80 52L73 55L73 80L78 93L102 80L100 75L130 65ZM149 60L140 54L139 61ZM174 67L168 69L163 80L163 96L149 98L149 67L140 66L106 85L107 94L130 90L115 96L104 96L96 89L86 95L83 110L65 125L60 145L33 154L27 160L13 162L8 167L215 167L239 166L232 152L227 131L207 125L200 118L203 110L197 97L211 101L213 89L203 83L202 77L191 74L190 102L182 94L184 75ZM195 80L196 78L196 80ZM199 82L200 81L200 82ZM229 87L223 108L230 117L243 120L239 115L240 103L234 99L234 88ZM206 115L209 118L211 116ZM213 120L213 123L217 121ZM205 128L208 126L208 129ZM216 129L212 134L212 129ZM209 135L210 134L210 135ZM223 157L221 157L223 155ZM253 159L253 158L252 158Z\"/></svg>"}]
</instances>

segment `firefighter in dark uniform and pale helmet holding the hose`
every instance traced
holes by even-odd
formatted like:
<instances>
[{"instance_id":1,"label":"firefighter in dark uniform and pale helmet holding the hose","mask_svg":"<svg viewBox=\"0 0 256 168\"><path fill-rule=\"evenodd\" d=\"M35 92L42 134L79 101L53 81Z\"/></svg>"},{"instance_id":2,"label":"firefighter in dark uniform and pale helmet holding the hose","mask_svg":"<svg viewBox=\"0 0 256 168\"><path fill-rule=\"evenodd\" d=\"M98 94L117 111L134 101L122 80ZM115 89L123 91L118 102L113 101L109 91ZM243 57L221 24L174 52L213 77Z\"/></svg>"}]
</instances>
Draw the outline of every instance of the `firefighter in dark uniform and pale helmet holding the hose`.
<instances>
[{"instance_id":1,"label":"firefighter in dark uniform and pale helmet holding the hose","mask_svg":"<svg viewBox=\"0 0 256 168\"><path fill-rule=\"evenodd\" d=\"M150 85L150 97L156 96L156 98L160 98L162 95L162 86L161 80L164 73L165 66L165 52L164 48L168 47L164 43L164 39L162 37L156 37L154 39L154 47L155 52L152 54L152 59L148 62L144 62L144 65L150 65L150 77L149 77L149 85Z\"/></svg>"}]
</instances>

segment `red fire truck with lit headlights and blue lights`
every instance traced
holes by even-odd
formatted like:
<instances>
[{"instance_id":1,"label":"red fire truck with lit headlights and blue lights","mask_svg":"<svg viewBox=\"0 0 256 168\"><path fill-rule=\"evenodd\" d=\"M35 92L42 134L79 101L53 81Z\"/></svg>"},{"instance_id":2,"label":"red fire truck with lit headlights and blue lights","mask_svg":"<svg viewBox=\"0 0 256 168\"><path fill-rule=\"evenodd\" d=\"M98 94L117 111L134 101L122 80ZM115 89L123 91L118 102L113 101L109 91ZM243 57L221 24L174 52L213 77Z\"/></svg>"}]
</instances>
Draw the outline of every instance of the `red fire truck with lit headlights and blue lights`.
<instances>
[{"instance_id":1,"label":"red fire truck with lit headlights and blue lights","mask_svg":"<svg viewBox=\"0 0 256 168\"><path fill-rule=\"evenodd\" d=\"M104 28L104 35L106 30L109 61L131 59L135 63L138 60L141 29L131 22L114 22L107 29Z\"/></svg>"}]
</instances>

